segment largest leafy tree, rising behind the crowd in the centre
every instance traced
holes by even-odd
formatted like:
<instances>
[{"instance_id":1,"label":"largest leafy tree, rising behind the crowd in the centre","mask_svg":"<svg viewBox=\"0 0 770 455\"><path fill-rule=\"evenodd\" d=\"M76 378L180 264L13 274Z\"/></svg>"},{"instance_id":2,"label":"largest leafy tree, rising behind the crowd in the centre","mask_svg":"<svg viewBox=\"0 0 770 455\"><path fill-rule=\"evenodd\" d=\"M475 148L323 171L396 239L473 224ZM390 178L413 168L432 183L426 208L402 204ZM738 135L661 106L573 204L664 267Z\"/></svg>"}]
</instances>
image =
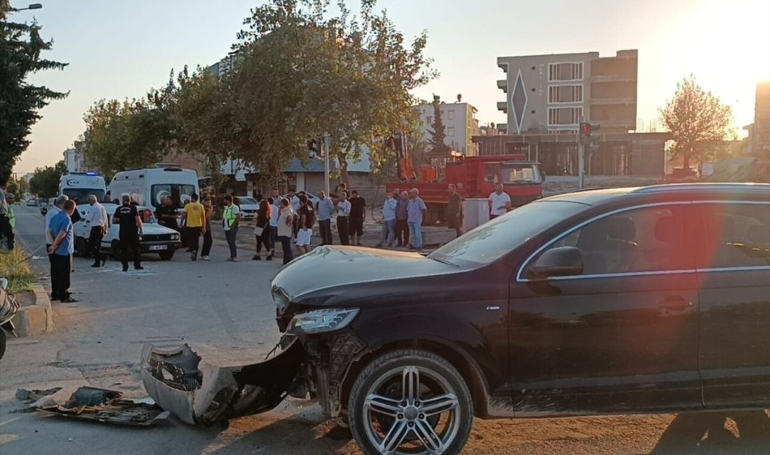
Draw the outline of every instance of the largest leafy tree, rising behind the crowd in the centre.
<instances>
[{"instance_id":1,"label":"largest leafy tree, rising behind the crowd in the centre","mask_svg":"<svg viewBox=\"0 0 770 455\"><path fill-rule=\"evenodd\" d=\"M330 138L330 154L348 181L349 162L370 152L373 168L393 166L383 138L406 129L410 90L435 77L423 55L425 32L410 44L385 12L363 0L354 16L343 2L272 0L253 9L239 33L239 62L223 79L233 90L236 158L280 172L307 159L308 139Z\"/></svg>"}]
</instances>

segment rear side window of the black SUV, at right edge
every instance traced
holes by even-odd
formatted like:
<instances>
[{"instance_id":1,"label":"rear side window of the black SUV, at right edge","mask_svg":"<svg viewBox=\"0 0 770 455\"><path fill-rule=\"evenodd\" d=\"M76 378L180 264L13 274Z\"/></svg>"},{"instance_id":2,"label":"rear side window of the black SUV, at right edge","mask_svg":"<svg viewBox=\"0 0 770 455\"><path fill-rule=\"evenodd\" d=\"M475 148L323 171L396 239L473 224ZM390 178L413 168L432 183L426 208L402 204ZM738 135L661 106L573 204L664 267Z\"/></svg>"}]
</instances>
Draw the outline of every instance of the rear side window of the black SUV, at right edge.
<instances>
[{"instance_id":1,"label":"rear side window of the black SUV, at right edge","mask_svg":"<svg viewBox=\"0 0 770 455\"><path fill-rule=\"evenodd\" d=\"M770 265L770 204L702 205L706 267Z\"/></svg>"}]
</instances>

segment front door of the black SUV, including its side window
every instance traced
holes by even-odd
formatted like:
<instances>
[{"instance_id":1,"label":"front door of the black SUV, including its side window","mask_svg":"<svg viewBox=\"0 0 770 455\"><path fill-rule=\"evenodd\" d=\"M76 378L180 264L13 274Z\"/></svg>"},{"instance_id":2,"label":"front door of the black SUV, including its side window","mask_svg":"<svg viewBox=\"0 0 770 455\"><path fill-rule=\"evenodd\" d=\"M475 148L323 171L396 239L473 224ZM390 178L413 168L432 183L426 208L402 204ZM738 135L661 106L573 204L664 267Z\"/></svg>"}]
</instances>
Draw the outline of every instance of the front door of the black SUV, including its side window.
<instances>
[{"instance_id":1,"label":"front door of the black SUV, including its side window","mask_svg":"<svg viewBox=\"0 0 770 455\"><path fill-rule=\"evenodd\" d=\"M701 409L698 277L689 202L616 209L567 229L511 283L514 413ZM527 266L574 246L583 273Z\"/></svg>"}]
</instances>

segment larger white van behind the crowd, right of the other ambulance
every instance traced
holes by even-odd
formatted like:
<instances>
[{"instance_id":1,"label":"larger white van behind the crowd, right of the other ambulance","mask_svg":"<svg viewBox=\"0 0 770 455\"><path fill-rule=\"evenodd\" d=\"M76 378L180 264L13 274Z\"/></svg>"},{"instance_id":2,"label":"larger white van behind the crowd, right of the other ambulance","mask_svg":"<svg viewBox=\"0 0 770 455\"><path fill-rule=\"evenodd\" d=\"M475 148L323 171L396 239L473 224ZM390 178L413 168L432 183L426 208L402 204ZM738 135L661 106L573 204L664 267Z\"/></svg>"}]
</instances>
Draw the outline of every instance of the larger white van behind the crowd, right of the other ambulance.
<instances>
[{"instance_id":1,"label":"larger white van behind the crowd, right of the other ambulance","mask_svg":"<svg viewBox=\"0 0 770 455\"><path fill-rule=\"evenodd\" d=\"M198 174L192 169L131 169L118 172L112 177L109 200L120 204L122 196L128 195L140 206L157 207L164 196L171 196L174 206L179 209L199 191Z\"/></svg>"}]
</instances>

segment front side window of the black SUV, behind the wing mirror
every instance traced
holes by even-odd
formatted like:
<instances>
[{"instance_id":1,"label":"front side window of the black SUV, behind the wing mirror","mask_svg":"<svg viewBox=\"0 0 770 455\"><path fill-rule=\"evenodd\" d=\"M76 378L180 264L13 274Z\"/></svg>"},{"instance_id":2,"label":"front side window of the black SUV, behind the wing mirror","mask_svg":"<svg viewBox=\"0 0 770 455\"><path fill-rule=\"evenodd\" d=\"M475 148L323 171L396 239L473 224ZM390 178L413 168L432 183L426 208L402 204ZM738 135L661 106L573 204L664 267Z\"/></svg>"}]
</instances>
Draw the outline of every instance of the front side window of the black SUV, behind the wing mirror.
<instances>
[{"instance_id":1,"label":"front side window of the black SUV, behind the wing mirror","mask_svg":"<svg viewBox=\"0 0 770 455\"><path fill-rule=\"evenodd\" d=\"M549 249L580 249L584 275L688 269L694 264L685 248L685 210L654 206L616 213L588 223Z\"/></svg>"}]
</instances>

